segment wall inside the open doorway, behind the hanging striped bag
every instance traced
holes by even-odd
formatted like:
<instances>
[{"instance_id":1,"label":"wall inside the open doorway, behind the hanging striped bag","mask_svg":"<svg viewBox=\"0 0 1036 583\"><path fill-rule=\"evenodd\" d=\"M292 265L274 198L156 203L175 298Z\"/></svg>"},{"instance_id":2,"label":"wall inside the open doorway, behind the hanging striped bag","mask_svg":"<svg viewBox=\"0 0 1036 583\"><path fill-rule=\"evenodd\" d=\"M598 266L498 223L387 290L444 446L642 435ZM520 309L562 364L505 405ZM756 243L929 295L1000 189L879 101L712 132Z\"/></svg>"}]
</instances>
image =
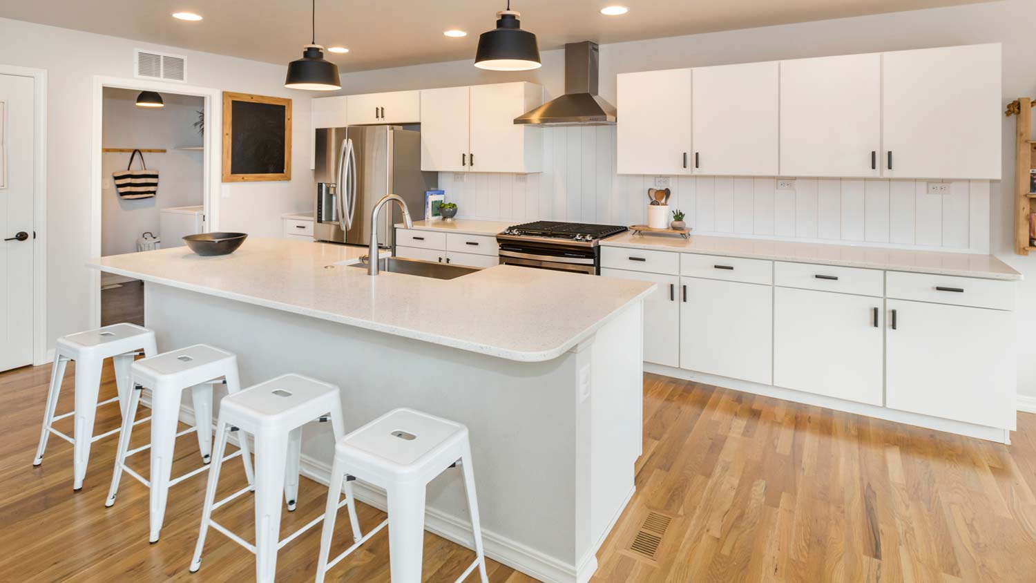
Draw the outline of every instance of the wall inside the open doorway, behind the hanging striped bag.
<instances>
[{"instance_id":1,"label":"wall inside the open doorway, behind the hanging striped bag","mask_svg":"<svg viewBox=\"0 0 1036 583\"><path fill-rule=\"evenodd\" d=\"M166 107L138 108L137 93L105 89L102 143L106 148L165 149L165 153L144 154L148 170L159 171L159 194L150 199L119 198L112 172L125 170L131 154L102 154L102 255L137 251L137 239L145 231L161 236L159 209L202 204L203 153L176 148L201 144L194 123L198 111L204 108L204 99L164 94ZM140 168L138 159L133 163L135 169Z\"/></svg>"}]
</instances>

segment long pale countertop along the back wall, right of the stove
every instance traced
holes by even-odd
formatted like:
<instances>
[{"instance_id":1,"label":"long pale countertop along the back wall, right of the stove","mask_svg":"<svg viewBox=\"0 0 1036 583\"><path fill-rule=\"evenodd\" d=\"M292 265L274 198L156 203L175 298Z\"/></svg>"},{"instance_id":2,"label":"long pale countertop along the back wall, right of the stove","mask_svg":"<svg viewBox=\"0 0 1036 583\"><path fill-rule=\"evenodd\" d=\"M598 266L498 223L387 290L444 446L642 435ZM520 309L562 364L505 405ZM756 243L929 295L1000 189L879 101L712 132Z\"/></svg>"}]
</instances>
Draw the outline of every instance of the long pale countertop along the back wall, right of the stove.
<instances>
[{"instance_id":1,"label":"long pale countertop along the back wall, right of the stove","mask_svg":"<svg viewBox=\"0 0 1036 583\"><path fill-rule=\"evenodd\" d=\"M1020 280L1021 273L991 255L908 251L872 246L838 245L691 235L636 235L627 232L601 241L603 246L675 251L773 261L822 263L845 267L914 271L941 275Z\"/></svg>"}]
</instances>

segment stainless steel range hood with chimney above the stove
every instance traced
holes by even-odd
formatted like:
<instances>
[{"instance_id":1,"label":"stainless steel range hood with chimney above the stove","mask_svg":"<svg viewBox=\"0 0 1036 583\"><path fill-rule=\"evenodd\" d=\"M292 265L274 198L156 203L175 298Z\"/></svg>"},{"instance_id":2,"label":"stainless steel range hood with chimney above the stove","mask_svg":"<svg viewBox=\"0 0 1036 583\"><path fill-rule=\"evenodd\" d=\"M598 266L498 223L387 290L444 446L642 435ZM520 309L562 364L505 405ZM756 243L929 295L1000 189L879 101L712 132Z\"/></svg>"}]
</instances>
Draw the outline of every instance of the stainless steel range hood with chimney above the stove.
<instances>
[{"instance_id":1,"label":"stainless steel range hood with chimney above the stove","mask_svg":"<svg viewBox=\"0 0 1036 583\"><path fill-rule=\"evenodd\" d=\"M597 42L565 46L565 94L515 118L529 125L614 125L615 108L597 94Z\"/></svg>"}]
</instances>

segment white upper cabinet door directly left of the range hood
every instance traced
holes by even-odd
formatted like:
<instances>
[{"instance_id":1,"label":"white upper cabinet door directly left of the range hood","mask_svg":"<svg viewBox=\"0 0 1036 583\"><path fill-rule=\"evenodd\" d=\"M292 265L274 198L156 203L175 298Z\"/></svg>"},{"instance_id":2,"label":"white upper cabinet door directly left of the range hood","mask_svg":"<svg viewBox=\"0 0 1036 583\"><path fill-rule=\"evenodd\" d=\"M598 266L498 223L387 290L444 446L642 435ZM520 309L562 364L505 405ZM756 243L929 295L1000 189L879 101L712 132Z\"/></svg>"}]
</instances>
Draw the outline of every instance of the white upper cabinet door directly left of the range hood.
<instances>
[{"instance_id":1,"label":"white upper cabinet door directly left of the range hood","mask_svg":"<svg viewBox=\"0 0 1036 583\"><path fill-rule=\"evenodd\" d=\"M514 120L541 105L543 87L533 83L471 86L468 170L540 172L543 130Z\"/></svg>"}]
</instances>

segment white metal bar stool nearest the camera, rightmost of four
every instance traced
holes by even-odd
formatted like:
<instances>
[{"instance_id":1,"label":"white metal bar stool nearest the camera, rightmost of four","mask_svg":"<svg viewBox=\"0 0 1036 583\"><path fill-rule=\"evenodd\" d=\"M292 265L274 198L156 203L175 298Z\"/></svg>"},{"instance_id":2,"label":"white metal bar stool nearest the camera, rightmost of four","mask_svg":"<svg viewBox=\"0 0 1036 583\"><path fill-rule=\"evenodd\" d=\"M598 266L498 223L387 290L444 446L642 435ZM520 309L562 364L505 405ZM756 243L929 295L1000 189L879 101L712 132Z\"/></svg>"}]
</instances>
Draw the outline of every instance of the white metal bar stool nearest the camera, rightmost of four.
<instances>
[{"instance_id":1,"label":"white metal bar stool nearest the camera, rightmost of four","mask_svg":"<svg viewBox=\"0 0 1036 583\"><path fill-rule=\"evenodd\" d=\"M412 409L395 409L345 436L335 446L327 507L320 536L317 583L327 570L388 525L388 561L393 583L420 583L425 540L425 489L448 468L460 464L464 491L474 534L474 561L457 578L463 581L476 566L483 583L486 557L482 549L479 502L474 495L474 471L467 428L461 424ZM330 561L332 533L342 482L362 479L383 488L388 497L388 518Z\"/></svg>"}]
</instances>

